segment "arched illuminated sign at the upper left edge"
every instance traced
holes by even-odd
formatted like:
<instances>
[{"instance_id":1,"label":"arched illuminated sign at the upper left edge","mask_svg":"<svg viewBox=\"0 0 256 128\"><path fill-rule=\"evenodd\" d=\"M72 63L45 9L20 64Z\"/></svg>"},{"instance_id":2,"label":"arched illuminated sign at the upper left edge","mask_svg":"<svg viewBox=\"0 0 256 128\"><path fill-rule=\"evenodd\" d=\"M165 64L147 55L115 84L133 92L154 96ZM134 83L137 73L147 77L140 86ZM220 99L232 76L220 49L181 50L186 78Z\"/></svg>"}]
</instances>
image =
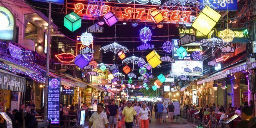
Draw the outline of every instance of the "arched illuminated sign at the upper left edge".
<instances>
[{"instance_id":1,"label":"arched illuminated sign at the upper left edge","mask_svg":"<svg viewBox=\"0 0 256 128\"><path fill-rule=\"evenodd\" d=\"M16 20L12 13L0 6L0 19L0 40L15 40Z\"/></svg>"}]
</instances>

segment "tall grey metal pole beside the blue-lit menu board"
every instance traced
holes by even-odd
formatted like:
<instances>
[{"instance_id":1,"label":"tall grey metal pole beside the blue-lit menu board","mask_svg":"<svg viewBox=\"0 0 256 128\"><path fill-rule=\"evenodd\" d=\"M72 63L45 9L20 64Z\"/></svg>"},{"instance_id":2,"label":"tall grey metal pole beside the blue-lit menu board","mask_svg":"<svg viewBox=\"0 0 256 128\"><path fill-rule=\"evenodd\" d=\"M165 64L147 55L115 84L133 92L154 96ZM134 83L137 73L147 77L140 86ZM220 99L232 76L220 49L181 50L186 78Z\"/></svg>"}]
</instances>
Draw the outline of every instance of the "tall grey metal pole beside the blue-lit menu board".
<instances>
[{"instance_id":1,"label":"tall grey metal pole beside the blue-lit menu board","mask_svg":"<svg viewBox=\"0 0 256 128\"><path fill-rule=\"evenodd\" d=\"M47 53L46 53L46 79L44 86L44 120L47 121L47 107L48 107L48 78L49 78L49 63L50 63L50 41L51 41L51 2L49 2L48 15L48 38L47 38Z\"/></svg>"}]
</instances>

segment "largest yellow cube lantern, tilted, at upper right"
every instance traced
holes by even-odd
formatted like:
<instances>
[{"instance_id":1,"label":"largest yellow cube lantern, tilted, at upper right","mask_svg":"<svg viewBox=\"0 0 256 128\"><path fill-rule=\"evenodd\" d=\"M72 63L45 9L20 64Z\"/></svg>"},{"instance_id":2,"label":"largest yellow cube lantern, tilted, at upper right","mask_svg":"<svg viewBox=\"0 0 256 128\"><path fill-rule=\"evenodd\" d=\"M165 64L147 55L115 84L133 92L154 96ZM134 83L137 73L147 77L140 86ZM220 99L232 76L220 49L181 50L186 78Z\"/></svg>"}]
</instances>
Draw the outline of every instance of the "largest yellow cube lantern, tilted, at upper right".
<instances>
[{"instance_id":1,"label":"largest yellow cube lantern, tilted, at upper right","mask_svg":"<svg viewBox=\"0 0 256 128\"><path fill-rule=\"evenodd\" d=\"M220 17L221 15L219 13L206 5L191 26L207 36L217 24Z\"/></svg>"}]
</instances>

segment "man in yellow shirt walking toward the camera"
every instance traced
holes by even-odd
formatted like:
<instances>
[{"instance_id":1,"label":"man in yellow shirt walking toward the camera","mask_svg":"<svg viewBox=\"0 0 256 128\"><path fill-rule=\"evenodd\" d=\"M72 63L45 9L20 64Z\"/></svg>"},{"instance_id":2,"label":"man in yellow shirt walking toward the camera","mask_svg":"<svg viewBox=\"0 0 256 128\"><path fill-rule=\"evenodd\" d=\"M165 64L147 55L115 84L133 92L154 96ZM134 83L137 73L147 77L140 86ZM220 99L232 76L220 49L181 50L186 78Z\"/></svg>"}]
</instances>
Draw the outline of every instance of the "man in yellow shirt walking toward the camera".
<instances>
[{"instance_id":1,"label":"man in yellow shirt walking toward the camera","mask_svg":"<svg viewBox=\"0 0 256 128\"><path fill-rule=\"evenodd\" d=\"M132 102L128 101L127 106L124 107L124 110L122 111L122 119L124 117L124 122L125 122L126 128L132 128L133 117L135 117L136 123L138 122L136 114L137 114L137 112L132 107Z\"/></svg>"}]
</instances>

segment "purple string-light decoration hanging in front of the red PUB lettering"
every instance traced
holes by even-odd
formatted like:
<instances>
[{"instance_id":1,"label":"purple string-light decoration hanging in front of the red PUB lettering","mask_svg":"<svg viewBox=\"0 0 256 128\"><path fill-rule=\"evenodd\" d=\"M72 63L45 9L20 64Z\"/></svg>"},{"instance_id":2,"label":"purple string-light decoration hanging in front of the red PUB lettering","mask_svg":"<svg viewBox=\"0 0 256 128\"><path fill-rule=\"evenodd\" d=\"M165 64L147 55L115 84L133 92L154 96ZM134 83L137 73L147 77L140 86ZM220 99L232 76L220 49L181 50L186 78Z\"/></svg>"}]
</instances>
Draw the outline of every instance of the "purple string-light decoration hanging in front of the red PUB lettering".
<instances>
[{"instance_id":1,"label":"purple string-light decoration hanging in front of the red PUB lettering","mask_svg":"<svg viewBox=\"0 0 256 128\"><path fill-rule=\"evenodd\" d=\"M101 7L105 5L105 2L102 0L89 0L88 2L88 9L90 14L92 14L93 17L99 17L102 15L103 12L101 12ZM96 8L95 8L96 7Z\"/></svg>"}]
</instances>

